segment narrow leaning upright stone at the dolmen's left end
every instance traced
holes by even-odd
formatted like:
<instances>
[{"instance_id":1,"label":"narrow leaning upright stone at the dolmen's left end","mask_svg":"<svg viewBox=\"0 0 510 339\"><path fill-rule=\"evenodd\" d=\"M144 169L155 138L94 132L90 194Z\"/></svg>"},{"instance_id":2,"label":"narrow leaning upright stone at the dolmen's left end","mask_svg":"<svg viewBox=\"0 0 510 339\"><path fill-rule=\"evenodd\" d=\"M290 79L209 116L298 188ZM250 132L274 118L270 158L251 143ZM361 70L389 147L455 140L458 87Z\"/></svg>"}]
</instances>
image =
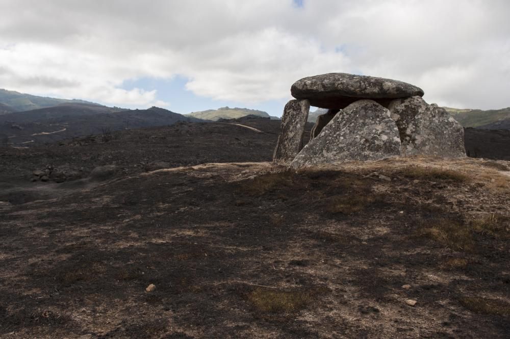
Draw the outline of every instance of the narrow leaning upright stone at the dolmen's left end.
<instances>
[{"instance_id":1,"label":"narrow leaning upright stone at the dolmen's left end","mask_svg":"<svg viewBox=\"0 0 510 339\"><path fill-rule=\"evenodd\" d=\"M273 162L288 165L303 147L304 125L307 123L310 101L290 100L285 105Z\"/></svg>"}]
</instances>

